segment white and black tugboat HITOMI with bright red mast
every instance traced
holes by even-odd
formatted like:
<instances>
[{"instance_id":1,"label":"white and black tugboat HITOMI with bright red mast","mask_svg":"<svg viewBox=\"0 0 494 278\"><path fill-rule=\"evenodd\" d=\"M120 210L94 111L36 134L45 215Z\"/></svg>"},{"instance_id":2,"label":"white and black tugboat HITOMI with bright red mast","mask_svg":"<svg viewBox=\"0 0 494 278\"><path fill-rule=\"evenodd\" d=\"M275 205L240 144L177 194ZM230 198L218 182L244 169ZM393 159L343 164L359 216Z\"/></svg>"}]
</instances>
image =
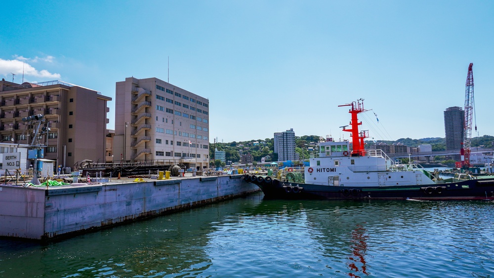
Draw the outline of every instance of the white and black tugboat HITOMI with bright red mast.
<instances>
[{"instance_id":1,"label":"white and black tugboat HITOMI with bright red mast","mask_svg":"<svg viewBox=\"0 0 494 278\"><path fill-rule=\"evenodd\" d=\"M368 131L359 131L358 114L365 112L364 100L350 104L352 150L348 140L329 136L319 143L319 154L309 166L288 168L275 177L245 174L271 199L419 199L494 200L494 177L442 180L420 164L398 164L382 150L365 150Z\"/></svg>"}]
</instances>

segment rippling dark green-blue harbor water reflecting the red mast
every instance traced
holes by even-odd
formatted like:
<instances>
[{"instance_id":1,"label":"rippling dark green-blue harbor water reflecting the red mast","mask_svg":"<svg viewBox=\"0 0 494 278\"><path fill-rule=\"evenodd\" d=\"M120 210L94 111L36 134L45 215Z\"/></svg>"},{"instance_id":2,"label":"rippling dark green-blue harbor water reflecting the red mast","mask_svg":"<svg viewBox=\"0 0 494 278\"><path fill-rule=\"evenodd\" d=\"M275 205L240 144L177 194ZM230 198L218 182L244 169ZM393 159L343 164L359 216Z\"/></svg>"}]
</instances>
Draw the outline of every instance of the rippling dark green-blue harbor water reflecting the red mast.
<instances>
[{"instance_id":1,"label":"rippling dark green-blue harbor water reflecting the red mast","mask_svg":"<svg viewBox=\"0 0 494 278\"><path fill-rule=\"evenodd\" d=\"M492 201L210 204L40 243L0 239L0 277L494 277Z\"/></svg>"}]
</instances>

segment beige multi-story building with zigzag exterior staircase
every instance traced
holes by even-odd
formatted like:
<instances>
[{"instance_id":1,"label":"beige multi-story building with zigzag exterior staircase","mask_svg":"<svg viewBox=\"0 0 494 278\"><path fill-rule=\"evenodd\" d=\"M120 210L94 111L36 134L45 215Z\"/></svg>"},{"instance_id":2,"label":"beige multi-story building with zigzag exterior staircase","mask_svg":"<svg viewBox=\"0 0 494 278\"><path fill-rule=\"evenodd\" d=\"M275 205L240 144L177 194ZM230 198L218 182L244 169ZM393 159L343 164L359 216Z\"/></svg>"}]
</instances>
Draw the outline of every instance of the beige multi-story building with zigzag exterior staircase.
<instances>
[{"instance_id":1,"label":"beige multi-story building with zigzag exterior staircase","mask_svg":"<svg viewBox=\"0 0 494 278\"><path fill-rule=\"evenodd\" d=\"M117 82L114 157L209 167L209 101L157 78Z\"/></svg>"}]
</instances>

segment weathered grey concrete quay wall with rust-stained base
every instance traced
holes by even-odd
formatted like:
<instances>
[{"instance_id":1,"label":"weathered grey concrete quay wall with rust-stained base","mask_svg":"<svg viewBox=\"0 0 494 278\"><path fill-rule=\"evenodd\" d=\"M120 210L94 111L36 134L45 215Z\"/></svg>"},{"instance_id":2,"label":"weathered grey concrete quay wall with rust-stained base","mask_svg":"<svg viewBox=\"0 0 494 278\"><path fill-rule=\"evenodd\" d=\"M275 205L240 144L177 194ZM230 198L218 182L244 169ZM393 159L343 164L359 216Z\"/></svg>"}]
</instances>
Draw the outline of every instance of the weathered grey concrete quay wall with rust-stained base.
<instances>
[{"instance_id":1,"label":"weathered grey concrete quay wall with rust-stained base","mask_svg":"<svg viewBox=\"0 0 494 278\"><path fill-rule=\"evenodd\" d=\"M0 236L49 239L259 191L242 175L25 188L0 185Z\"/></svg>"}]
</instances>

